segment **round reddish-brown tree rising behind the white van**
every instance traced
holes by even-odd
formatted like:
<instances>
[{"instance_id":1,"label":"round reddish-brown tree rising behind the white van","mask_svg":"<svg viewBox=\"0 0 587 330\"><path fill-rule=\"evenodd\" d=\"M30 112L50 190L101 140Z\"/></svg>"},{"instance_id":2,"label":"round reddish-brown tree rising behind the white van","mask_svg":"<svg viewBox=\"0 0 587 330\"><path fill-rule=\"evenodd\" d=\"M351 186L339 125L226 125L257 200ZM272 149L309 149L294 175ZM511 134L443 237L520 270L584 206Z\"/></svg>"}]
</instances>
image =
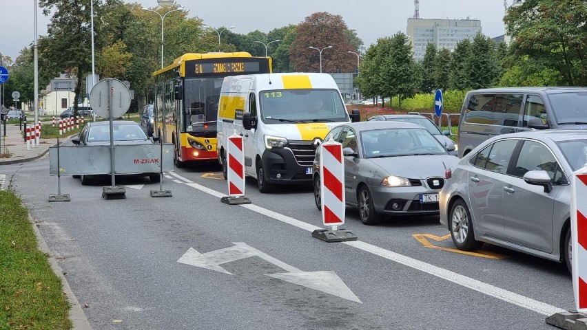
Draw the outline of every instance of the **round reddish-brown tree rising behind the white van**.
<instances>
[{"instance_id":1,"label":"round reddish-brown tree rising behind the white van","mask_svg":"<svg viewBox=\"0 0 587 330\"><path fill-rule=\"evenodd\" d=\"M340 15L328 12L315 12L297 27L298 33L289 50L289 60L298 72L353 72L356 60L348 56L348 51L357 52L349 43L347 24ZM320 56L318 50L325 47Z\"/></svg>"}]
</instances>

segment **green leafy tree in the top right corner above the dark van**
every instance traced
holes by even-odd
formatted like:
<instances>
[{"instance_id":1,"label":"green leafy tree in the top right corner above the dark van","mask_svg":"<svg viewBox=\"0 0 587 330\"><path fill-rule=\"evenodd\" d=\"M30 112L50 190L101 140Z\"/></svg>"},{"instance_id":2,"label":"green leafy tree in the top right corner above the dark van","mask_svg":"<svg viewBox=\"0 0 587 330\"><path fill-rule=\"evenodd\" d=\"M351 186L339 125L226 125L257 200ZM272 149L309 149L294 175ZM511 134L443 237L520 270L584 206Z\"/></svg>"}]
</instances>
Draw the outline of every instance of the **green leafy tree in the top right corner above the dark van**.
<instances>
[{"instance_id":1,"label":"green leafy tree in the top right corner above the dark van","mask_svg":"<svg viewBox=\"0 0 587 330\"><path fill-rule=\"evenodd\" d=\"M564 85L587 85L587 4L583 0L526 0L510 8L506 30L513 53L548 63Z\"/></svg>"}]
</instances>

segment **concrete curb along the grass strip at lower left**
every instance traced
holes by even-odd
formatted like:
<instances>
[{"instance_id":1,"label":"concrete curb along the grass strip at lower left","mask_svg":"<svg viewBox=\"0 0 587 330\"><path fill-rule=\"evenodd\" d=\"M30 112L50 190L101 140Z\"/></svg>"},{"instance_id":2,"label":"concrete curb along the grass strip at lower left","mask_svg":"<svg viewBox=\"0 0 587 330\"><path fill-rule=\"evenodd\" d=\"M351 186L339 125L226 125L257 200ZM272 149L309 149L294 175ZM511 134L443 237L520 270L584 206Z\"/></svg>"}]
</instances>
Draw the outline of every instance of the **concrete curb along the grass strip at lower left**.
<instances>
[{"instance_id":1,"label":"concrete curb along the grass strip at lower left","mask_svg":"<svg viewBox=\"0 0 587 330\"><path fill-rule=\"evenodd\" d=\"M63 270L61 269L61 267L59 267L59 264L55 260L51 250L49 249L49 246L45 242L45 239L43 239L43 236L41 236L41 232L39 231L39 228L37 228L37 223L35 223L34 219L32 219L30 214L29 214L28 219L29 219L30 223L32 224L32 228L34 230L34 235L37 236L37 243L39 245L39 250L41 250L41 252L44 252L45 254L48 255L48 261L51 265L53 272L57 276L59 276L59 278L61 278L61 283L63 285L63 293L65 294L65 296L68 297L68 300L70 303L70 320L72 320L72 322L73 322L72 329L74 329L74 330L93 330L92 326L90 325L90 321L87 320L87 316L85 315L83 309L81 308L81 305L79 305L79 301L77 300L76 296L74 295L74 293L68 283L68 280L65 279L65 276L63 276Z\"/></svg>"}]
</instances>

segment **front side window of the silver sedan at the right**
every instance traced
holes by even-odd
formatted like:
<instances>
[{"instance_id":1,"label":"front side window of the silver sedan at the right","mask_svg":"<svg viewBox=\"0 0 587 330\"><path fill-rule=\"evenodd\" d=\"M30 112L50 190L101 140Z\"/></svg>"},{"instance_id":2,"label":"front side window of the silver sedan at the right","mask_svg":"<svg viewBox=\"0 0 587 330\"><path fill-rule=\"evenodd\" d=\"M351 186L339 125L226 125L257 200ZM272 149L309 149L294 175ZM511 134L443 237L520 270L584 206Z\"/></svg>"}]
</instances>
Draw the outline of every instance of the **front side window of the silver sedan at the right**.
<instances>
[{"instance_id":1,"label":"front side window of the silver sedan at the right","mask_svg":"<svg viewBox=\"0 0 587 330\"><path fill-rule=\"evenodd\" d=\"M562 184L562 181L566 181L556 157L549 148L539 142L524 142L519 152L514 175L523 177L529 170L546 170L553 184Z\"/></svg>"}]
</instances>

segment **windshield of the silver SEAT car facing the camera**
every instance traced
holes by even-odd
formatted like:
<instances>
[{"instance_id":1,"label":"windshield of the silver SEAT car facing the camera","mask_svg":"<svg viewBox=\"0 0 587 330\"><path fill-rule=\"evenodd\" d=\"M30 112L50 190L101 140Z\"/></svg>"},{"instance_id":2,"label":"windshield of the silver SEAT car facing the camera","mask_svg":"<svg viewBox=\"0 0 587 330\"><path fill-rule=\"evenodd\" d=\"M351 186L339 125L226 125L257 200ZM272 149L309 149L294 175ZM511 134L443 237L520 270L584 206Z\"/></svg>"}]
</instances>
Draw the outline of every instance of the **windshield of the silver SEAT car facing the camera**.
<instances>
[{"instance_id":1,"label":"windshield of the silver SEAT car facing the camera","mask_svg":"<svg viewBox=\"0 0 587 330\"><path fill-rule=\"evenodd\" d=\"M360 135L365 158L446 154L426 129L377 129Z\"/></svg>"}]
</instances>

